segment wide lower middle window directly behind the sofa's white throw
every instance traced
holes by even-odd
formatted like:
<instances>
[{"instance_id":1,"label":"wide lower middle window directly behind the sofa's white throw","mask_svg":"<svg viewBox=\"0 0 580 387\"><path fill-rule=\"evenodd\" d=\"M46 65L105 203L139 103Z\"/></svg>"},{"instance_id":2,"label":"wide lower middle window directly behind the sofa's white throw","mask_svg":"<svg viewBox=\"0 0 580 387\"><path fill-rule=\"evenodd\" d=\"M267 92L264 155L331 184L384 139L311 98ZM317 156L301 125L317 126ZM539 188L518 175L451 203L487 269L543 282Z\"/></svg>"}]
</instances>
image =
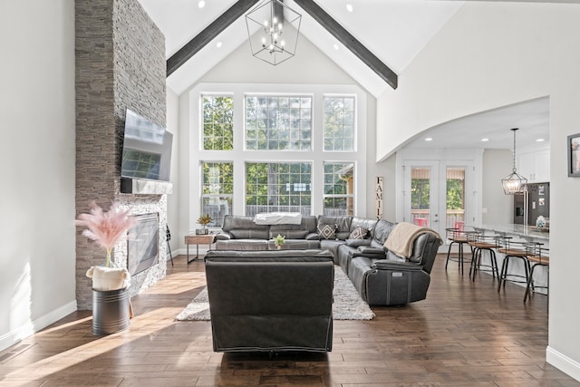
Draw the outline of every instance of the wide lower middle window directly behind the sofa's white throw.
<instances>
[{"instance_id":1,"label":"wide lower middle window directly behind the sofa's white throw","mask_svg":"<svg viewBox=\"0 0 580 387\"><path fill-rule=\"evenodd\" d=\"M273 211L311 215L311 170L308 162L247 162L246 215Z\"/></svg>"}]
</instances>

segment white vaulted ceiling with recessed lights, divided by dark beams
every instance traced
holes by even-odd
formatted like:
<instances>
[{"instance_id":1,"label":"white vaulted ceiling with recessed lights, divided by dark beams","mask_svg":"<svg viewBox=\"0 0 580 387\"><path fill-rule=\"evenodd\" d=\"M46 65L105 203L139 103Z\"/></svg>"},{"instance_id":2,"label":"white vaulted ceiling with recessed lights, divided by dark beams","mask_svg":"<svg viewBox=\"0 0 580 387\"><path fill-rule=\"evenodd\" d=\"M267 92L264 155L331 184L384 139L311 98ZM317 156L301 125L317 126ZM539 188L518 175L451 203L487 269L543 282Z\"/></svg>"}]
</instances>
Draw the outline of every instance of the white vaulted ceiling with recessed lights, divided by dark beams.
<instances>
[{"instance_id":1,"label":"white vaulted ceiling with recessed lights, divided by dark beams","mask_svg":"<svg viewBox=\"0 0 580 387\"><path fill-rule=\"evenodd\" d=\"M167 58L235 3L236 0L207 0L200 8L199 0L140 0L145 11L165 34ZM317 5L395 73L401 73L462 3L426 0L316 1ZM381 95L390 87L293 0L285 0L284 4L303 16L300 32L304 38L316 45L374 96ZM347 10L347 5L352 5L352 12ZM221 43L219 48L218 43ZM178 94L184 92L241 44L248 44L244 17L229 25L188 63L169 75L169 87Z\"/></svg>"}]
</instances>

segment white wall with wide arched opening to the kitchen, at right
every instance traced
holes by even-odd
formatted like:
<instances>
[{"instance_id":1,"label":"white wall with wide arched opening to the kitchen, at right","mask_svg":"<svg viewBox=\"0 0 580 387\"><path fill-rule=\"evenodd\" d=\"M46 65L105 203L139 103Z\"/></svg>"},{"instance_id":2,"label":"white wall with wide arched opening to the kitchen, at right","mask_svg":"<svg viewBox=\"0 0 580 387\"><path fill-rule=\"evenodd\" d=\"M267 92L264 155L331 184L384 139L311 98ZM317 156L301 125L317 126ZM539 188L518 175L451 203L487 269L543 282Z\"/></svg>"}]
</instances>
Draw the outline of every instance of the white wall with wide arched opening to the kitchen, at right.
<instances>
[{"instance_id":1,"label":"white wall with wide arched opening to the kitchen, at right","mask_svg":"<svg viewBox=\"0 0 580 387\"><path fill-rule=\"evenodd\" d=\"M550 97L548 363L580 380L575 241L580 179L566 176L565 138L580 127L580 5L466 2L377 101L377 158L442 122ZM402 134L404 133L404 134ZM381 144L381 145L379 145Z\"/></svg>"}]
</instances>

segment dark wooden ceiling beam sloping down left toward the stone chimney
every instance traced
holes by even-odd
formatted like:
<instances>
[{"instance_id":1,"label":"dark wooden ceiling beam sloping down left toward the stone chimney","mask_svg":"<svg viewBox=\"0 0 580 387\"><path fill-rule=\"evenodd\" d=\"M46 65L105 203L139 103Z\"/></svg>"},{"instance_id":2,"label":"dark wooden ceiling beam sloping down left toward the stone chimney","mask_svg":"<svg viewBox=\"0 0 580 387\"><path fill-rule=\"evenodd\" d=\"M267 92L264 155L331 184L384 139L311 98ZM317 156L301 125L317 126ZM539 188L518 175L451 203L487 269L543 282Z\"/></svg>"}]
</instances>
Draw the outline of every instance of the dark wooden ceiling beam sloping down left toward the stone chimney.
<instances>
[{"instance_id":1,"label":"dark wooden ceiling beam sloping down left toward the stone chimney","mask_svg":"<svg viewBox=\"0 0 580 387\"><path fill-rule=\"evenodd\" d=\"M187 44L174 53L167 60L167 76L175 72L179 67L188 62L189 58L198 53L206 44L211 42L218 34L233 24L259 0L237 0L226 12L220 15L212 24L209 24L202 32L191 39Z\"/></svg>"}]
</instances>

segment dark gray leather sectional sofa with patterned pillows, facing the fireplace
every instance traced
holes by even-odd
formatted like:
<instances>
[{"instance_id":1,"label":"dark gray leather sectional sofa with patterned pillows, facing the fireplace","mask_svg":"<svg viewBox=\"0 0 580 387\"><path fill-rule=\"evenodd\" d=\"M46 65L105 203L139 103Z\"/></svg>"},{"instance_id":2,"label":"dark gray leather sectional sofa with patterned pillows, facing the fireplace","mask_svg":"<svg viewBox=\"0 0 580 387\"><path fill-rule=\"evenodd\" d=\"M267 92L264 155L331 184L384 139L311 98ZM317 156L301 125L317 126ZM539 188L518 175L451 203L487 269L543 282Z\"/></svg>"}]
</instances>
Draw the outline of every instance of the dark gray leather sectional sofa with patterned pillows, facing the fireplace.
<instances>
[{"instance_id":1,"label":"dark gray leather sectional sofa with patterned pillows, facing the fireplace","mask_svg":"<svg viewBox=\"0 0 580 387\"><path fill-rule=\"evenodd\" d=\"M300 225L264 226L253 218L227 216L216 249L274 250L271 239L280 234L286 238L285 249L328 250L369 305L404 305L426 297L442 241L426 230L414 239L411 256L397 256L384 247L395 226L384 219L349 216L306 216Z\"/></svg>"}]
</instances>

